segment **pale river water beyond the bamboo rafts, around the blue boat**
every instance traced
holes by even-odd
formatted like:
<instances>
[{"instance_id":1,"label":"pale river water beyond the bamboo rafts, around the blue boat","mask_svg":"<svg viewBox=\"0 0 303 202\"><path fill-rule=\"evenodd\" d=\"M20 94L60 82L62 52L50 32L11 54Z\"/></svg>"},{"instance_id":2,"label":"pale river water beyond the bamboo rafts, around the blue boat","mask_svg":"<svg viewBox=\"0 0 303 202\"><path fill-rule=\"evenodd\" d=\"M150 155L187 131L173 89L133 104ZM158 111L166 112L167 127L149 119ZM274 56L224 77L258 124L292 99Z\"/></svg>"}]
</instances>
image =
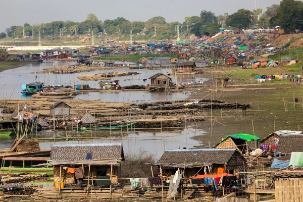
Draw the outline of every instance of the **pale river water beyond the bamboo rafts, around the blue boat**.
<instances>
[{"instance_id":1,"label":"pale river water beyond the bamboo rafts, around the blue boat","mask_svg":"<svg viewBox=\"0 0 303 202\"><path fill-rule=\"evenodd\" d=\"M68 66L72 65L74 62L59 62L59 61L44 61L42 63L31 63L26 64L25 66L18 67L15 69L6 70L0 72L0 99L18 99L18 98L30 98L29 96L22 96L21 84L27 84L34 82L34 74L30 72L42 71L43 68L50 68L55 66ZM137 75L122 76L122 77L113 77L112 80L119 80L121 86L128 85L147 85L150 83L148 79L150 76L153 76L156 73L162 72L165 74L171 73L171 69L155 69L155 70L131 70L128 68L119 69L119 70L102 70L94 72L82 72L75 74L37 74L38 81L44 82L44 85L74 85L74 84L90 84L92 88L98 87L98 81L81 81L77 78L79 75L88 75L88 74L97 74L104 72L139 72ZM182 75L172 77L174 83L181 82L198 82L206 81L207 78L203 77L194 77L193 75ZM165 100L176 100L176 99L185 99L188 95L183 93L165 93L165 92L117 92L117 93L104 93L104 92L85 92L77 95L75 99L101 99L105 102L154 102L154 101L165 101ZM142 101L140 101L142 100Z\"/></svg>"}]
</instances>

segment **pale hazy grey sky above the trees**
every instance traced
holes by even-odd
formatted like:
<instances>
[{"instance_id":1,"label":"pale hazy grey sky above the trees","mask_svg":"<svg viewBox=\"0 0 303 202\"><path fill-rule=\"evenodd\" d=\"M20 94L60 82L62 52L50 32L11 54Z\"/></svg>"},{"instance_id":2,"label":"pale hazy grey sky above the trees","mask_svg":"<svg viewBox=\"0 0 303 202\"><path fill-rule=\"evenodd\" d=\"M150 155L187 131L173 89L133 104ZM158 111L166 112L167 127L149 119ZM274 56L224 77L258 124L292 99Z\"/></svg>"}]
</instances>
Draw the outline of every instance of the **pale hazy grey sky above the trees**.
<instances>
[{"instance_id":1,"label":"pale hazy grey sky above the trees","mask_svg":"<svg viewBox=\"0 0 303 202\"><path fill-rule=\"evenodd\" d=\"M279 4L280 0L259 0L259 8ZM147 21L155 16L167 22L183 22L185 16L199 16L202 10L216 15L255 9L255 0L0 0L0 32L12 25L30 25L52 21L82 22L87 14L99 20L124 17L129 21Z\"/></svg>"}]
</instances>

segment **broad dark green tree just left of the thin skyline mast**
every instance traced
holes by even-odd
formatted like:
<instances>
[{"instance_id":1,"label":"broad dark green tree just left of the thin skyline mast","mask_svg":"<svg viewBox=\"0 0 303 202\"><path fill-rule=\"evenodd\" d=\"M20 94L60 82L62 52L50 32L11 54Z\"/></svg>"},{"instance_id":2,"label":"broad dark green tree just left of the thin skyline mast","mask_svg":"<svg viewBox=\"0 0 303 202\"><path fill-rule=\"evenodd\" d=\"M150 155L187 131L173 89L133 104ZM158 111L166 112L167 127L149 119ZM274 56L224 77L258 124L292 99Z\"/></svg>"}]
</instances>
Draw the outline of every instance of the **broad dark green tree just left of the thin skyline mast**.
<instances>
[{"instance_id":1,"label":"broad dark green tree just left of the thin skyline mast","mask_svg":"<svg viewBox=\"0 0 303 202\"><path fill-rule=\"evenodd\" d=\"M236 13L228 16L226 23L228 26L238 29L247 29L252 21L251 11L240 9Z\"/></svg>"}]
</instances>

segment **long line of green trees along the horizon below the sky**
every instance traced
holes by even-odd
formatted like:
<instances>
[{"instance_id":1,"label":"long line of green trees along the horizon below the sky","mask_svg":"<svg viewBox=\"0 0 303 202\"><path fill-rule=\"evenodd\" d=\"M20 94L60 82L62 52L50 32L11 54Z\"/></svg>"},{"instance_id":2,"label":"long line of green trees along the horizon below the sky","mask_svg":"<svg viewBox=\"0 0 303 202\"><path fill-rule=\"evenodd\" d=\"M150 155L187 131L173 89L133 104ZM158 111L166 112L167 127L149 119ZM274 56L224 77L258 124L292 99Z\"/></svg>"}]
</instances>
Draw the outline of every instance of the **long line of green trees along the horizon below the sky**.
<instances>
[{"instance_id":1,"label":"long line of green trees along the horizon below the sky","mask_svg":"<svg viewBox=\"0 0 303 202\"><path fill-rule=\"evenodd\" d=\"M262 9L249 11L239 9L236 13L216 16L211 11L201 11L200 16L185 17L183 23L167 23L166 19L157 16L146 22L134 21L118 17L114 20L99 20L96 15L88 14L83 22L54 21L47 24L24 26L11 26L6 33L0 33L0 38L22 37L38 35L45 36L75 36L83 34L107 34L107 35L130 35L141 34L148 37L160 35L162 38L170 39L177 35L177 26L180 34L194 34L196 36L211 35L219 32L221 27L225 29L248 29L255 24L260 28L273 28L280 26L288 32L302 30L303 3L294 0L282 0L280 5L272 5L263 13Z\"/></svg>"}]
</instances>

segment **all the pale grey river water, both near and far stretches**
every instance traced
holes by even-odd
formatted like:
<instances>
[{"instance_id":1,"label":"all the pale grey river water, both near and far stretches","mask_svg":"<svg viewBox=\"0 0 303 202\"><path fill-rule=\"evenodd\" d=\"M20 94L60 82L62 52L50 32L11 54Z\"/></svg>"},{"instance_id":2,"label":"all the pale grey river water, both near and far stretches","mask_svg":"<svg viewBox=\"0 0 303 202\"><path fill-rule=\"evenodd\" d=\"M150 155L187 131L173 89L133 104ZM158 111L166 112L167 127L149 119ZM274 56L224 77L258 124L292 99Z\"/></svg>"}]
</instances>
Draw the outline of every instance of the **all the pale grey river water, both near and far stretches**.
<instances>
[{"instance_id":1,"label":"all the pale grey river water, both near and far stretches","mask_svg":"<svg viewBox=\"0 0 303 202\"><path fill-rule=\"evenodd\" d=\"M21 84L34 82L34 74L30 72L42 71L43 68L49 68L55 66L67 66L72 64L71 62L58 62L58 61L44 61L43 63L32 63L26 66L6 70L0 72L0 99L18 99L18 98L30 98L23 97L20 93ZM74 85L77 83L90 84L92 88L98 86L98 81L80 81L77 79L78 75L84 74L97 74L102 72L112 72L113 70L105 71L94 71L94 72L82 72L75 74L38 74L38 80L44 82L45 85ZM115 71L137 71L140 72L138 75L130 75L124 77L112 78L112 80L118 79L121 86L127 85L147 85L150 80L150 76L162 72L170 73L171 70L130 70L130 69L119 69ZM206 81L207 78L193 77L193 75L178 76L177 78L172 77L173 82L198 82ZM105 102L128 102L128 103L139 103L139 102L154 102L154 101L165 101L165 100L177 100L186 99L188 94L185 93L164 93L164 92L144 92L144 91L133 91L133 92L81 92L75 97L75 99L92 99L92 100L103 100ZM45 133L46 131L42 131ZM49 131L53 133L52 131ZM205 135L205 132L197 128L187 128L186 130L174 130L171 132L130 132L128 136L123 139L107 138L103 140L82 140L82 141L68 141L68 142L40 142L41 148L51 148L53 144L82 144L82 143L122 143L125 153L137 153L143 149L149 153L160 158L166 149L176 149L178 146L181 148L187 147L192 148L198 146L200 142L191 139L191 137L197 135ZM0 137L0 148L11 147L14 136Z\"/></svg>"}]
</instances>

